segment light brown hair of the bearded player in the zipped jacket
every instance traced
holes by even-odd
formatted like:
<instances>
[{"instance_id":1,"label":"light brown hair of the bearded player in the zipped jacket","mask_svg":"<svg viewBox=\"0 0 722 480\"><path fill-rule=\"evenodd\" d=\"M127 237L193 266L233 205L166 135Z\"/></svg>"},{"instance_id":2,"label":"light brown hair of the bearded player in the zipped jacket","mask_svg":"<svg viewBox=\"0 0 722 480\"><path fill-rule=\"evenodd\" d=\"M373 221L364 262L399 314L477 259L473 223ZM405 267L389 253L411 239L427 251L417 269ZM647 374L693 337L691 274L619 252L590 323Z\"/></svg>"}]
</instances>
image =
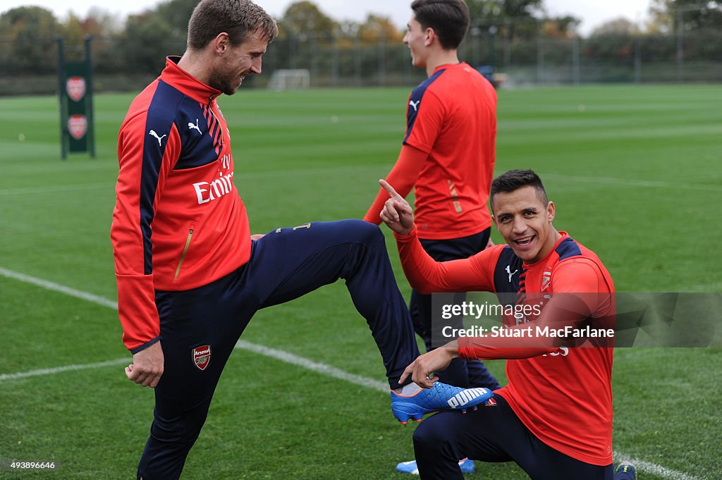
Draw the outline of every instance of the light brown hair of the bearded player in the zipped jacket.
<instances>
[{"instance_id":1,"label":"light brown hair of the bearded player in the zipped jacket","mask_svg":"<svg viewBox=\"0 0 722 480\"><path fill-rule=\"evenodd\" d=\"M240 45L258 30L268 43L278 35L276 21L252 1L201 0L188 22L188 49L202 50L222 32Z\"/></svg>"}]
</instances>

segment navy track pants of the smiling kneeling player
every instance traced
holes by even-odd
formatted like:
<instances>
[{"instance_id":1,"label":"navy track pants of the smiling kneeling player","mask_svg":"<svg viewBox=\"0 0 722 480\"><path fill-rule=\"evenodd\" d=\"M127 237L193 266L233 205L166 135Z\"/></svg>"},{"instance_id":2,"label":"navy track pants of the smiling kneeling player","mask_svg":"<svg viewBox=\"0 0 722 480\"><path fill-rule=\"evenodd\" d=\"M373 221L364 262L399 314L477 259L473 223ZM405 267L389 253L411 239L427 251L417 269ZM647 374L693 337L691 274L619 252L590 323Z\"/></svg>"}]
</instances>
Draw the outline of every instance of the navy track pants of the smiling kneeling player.
<instances>
[{"instance_id":1,"label":"navy track pants of the smiling kneeling player","mask_svg":"<svg viewBox=\"0 0 722 480\"><path fill-rule=\"evenodd\" d=\"M596 466L567 456L536 438L507 401L477 411L442 411L414 432L414 453L422 480L463 480L459 458L516 462L531 480L612 480L613 466ZM622 477L619 477L620 479Z\"/></svg>"}]
</instances>

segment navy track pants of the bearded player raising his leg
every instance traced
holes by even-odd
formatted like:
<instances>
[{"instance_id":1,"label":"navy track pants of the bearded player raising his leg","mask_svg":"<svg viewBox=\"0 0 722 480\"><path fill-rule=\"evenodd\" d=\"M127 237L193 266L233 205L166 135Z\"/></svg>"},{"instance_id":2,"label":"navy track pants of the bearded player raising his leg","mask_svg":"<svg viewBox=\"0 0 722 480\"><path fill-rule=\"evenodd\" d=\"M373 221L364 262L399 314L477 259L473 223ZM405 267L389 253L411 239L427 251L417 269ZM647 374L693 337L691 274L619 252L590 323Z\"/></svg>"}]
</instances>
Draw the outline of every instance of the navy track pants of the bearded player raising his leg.
<instances>
[{"instance_id":1,"label":"navy track pants of the bearded player raising his leg","mask_svg":"<svg viewBox=\"0 0 722 480\"><path fill-rule=\"evenodd\" d=\"M315 222L253 242L237 271L185 292L157 292L164 372L138 478L178 479L201 431L223 367L257 310L345 279L383 357L391 388L419 355L379 228L362 220ZM204 370L193 351L210 346ZM204 349L200 349L202 352Z\"/></svg>"}]
</instances>

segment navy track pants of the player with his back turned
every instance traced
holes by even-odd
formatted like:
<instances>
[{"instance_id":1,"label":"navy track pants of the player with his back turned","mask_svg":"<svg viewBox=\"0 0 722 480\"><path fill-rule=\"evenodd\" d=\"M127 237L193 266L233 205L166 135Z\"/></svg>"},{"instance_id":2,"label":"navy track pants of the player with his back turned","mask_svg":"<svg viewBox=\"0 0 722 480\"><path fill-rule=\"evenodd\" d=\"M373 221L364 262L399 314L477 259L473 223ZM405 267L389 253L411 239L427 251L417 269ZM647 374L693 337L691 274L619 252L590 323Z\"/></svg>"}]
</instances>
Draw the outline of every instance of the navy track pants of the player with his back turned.
<instances>
[{"instance_id":1,"label":"navy track pants of the player with his back turned","mask_svg":"<svg viewBox=\"0 0 722 480\"><path fill-rule=\"evenodd\" d=\"M469 258L475 253L479 253L484 250L484 248L487 248L490 233L491 229L487 228L487 230L479 232L476 235L470 235L469 237L453 238L450 240L422 239L421 245L435 261L458 260L460 258ZM453 300L453 303L456 305L464 302L466 298L466 294L461 292L449 295L456 296L456 299ZM414 330L424 339L427 352L432 350L432 331L434 329L431 297L431 295L420 294L416 290L413 290L411 302L409 302ZM439 301L444 303L452 302L452 300L445 302L441 298ZM462 324L463 318L461 317L456 317L448 321L445 320L445 325L453 325L461 328ZM433 338L438 339L439 335L434 335ZM481 360L455 358L445 370L436 372L436 375L438 375L440 382L448 383L456 387L485 387L490 390L501 388L501 385L499 385L496 378L494 378L494 375L487 370L487 367L484 366Z\"/></svg>"}]
</instances>

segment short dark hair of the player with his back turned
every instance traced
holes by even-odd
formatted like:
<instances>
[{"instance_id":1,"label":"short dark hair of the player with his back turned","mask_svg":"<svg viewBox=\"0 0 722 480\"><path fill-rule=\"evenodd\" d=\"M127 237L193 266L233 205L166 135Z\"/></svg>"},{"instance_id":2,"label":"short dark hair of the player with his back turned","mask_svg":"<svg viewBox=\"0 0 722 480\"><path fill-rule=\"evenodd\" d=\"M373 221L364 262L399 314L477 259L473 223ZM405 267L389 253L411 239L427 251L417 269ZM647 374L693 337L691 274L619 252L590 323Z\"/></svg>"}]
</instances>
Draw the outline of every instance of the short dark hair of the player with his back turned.
<instances>
[{"instance_id":1,"label":"short dark hair of the player with his back turned","mask_svg":"<svg viewBox=\"0 0 722 480\"><path fill-rule=\"evenodd\" d=\"M411 4L417 22L432 28L445 50L458 48L469 28L469 7L464 0L414 0Z\"/></svg>"}]
</instances>

